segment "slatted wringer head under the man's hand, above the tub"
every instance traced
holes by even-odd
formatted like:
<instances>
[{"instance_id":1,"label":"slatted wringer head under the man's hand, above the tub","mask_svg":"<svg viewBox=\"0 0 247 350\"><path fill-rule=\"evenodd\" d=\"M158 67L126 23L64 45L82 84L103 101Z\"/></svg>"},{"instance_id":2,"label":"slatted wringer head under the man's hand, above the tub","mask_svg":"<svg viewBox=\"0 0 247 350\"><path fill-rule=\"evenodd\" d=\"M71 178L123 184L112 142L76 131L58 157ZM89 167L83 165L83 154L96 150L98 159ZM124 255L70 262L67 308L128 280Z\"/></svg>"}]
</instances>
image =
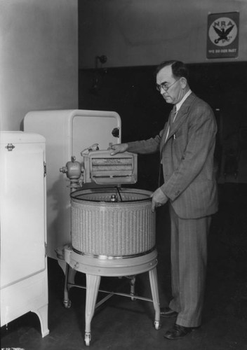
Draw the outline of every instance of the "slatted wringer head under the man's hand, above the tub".
<instances>
[{"instance_id":1,"label":"slatted wringer head under the man's hand, above the tub","mask_svg":"<svg viewBox=\"0 0 247 350\"><path fill-rule=\"evenodd\" d=\"M84 181L98 185L136 183L137 155L129 152L111 155L111 152L91 151L84 155Z\"/></svg>"}]
</instances>

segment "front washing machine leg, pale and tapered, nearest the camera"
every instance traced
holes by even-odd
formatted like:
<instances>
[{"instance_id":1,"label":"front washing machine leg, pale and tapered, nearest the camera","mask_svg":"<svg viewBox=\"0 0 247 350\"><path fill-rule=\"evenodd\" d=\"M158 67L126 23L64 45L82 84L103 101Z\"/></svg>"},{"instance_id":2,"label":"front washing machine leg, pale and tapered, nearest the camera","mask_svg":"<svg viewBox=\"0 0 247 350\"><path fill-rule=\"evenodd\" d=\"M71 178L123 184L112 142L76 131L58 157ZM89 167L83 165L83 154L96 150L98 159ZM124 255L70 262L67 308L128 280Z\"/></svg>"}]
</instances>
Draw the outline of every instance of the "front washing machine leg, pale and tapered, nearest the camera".
<instances>
[{"instance_id":1,"label":"front washing machine leg, pale and tapered, nearest the camera","mask_svg":"<svg viewBox=\"0 0 247 350\"><path fill-rule=\"evenodd\" d=\"M100 276L86 274L86 310L85 310L85 343L91 341L91 321L95 311L95 304L100 286Z\"/></svg>"}]
</instances>

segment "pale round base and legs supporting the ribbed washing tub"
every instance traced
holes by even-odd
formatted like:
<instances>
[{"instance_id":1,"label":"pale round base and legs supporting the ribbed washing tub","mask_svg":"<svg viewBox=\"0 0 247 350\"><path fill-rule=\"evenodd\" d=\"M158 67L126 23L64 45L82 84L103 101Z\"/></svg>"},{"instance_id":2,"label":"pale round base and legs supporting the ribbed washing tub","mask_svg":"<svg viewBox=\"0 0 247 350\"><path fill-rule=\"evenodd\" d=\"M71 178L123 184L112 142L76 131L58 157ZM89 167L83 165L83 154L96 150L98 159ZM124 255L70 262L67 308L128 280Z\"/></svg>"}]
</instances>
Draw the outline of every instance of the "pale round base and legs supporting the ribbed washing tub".
<instances>
[{"instance_id":1,"label":"pale round base and legs supporting the ribbed washing tub","mask_svg":"<svg viewBox=\"0 0 247 350\"><path fill-rule=\"evenodd\" d=\"M91 321L95 308L112 297L112 295L122 295L131 297L132 300L141 299L154 304L154 328L159 330L160 323L160 306L159 290L156 273L157 251L156 248L147 255L141 255L136 258L123 258L116 260L95 259L92 256L75 253L71 246L65 246L65 261L67 262L65 274L65 307L70 307L69 289L79 287L86 289L86 309L85 309L85 337L86 346L91 342ZM72 267L74 274L76 271L86 274L86 286L80 286L69 281L69 269ZM149 272L149 282L152 291L152 299L136 296L135 275ZM107 290L99 290L101 276L128 276L131 279L131 293L115 293ZM132 276L132 277L131 277ZM108 295L96 304L98 292L108 293Z\"/></svg>"}]
</instances>

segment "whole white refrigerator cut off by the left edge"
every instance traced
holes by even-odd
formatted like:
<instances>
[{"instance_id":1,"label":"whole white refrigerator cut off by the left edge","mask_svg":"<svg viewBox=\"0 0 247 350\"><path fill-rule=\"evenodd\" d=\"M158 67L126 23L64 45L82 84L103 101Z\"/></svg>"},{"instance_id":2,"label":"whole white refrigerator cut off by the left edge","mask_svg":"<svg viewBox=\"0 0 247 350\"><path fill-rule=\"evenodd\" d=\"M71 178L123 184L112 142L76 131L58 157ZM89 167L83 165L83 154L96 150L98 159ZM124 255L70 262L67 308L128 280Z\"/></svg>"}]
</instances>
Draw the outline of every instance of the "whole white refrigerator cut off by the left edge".
<instances>
[{"instance_id":1,"label":"whole white refrigerator cut off by the left edge","mask_svg":"<svg viewBox=\"0 0 247 350\"><path fill-rule=\"evenodd\" d=\"M28 311L48 334L45 139L0 134L1 325Z\"/></svg>"}]
</instances>

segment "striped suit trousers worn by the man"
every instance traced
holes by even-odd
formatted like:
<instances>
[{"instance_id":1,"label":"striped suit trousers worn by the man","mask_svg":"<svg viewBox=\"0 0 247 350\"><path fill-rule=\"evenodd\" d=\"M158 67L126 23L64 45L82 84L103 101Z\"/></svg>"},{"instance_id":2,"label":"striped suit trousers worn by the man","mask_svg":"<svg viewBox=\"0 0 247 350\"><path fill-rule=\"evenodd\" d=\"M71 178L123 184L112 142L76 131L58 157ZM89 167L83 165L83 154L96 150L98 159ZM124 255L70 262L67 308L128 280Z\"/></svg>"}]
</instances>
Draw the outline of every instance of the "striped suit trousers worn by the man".
<instances>
[{"instance_id":1,"label":"striped suit trousers worn by the man","mask_svg":"<svg viewBox=\"0 0 247 350\"><path fill-rule=\"evenodd\" d=\"M211 216L183 219L175 214L171 204L169 207L173 293L169 307L178 312L178 325L198 327L201 325Z\"/></svg>"}]
</instances>

